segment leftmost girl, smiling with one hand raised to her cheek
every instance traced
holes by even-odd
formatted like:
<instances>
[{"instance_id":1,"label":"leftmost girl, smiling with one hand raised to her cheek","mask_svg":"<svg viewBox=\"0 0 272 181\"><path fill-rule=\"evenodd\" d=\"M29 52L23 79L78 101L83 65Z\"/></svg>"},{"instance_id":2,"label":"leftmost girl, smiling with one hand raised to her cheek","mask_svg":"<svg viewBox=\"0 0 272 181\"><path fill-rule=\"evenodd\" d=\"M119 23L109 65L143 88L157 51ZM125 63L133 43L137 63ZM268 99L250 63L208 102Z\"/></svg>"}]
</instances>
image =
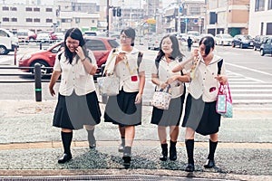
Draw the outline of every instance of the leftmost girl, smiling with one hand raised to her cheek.
<instances>
[{"instance_id":1,"label":"leftmost girl, smiling with one hand raised to her cheek","mask_svg":"<svg viewBox=\"0 0 272 181\"><path fill-rule=\"evenodd\" d=\"M73 129L83 129L85 125L90 148L96 146L94 125L101 121L101 110L92 77L96 69L95 58L92 51L86 49L82 32L78 28L67 30L64 50L56 56L49 84L53 96L53 86L62 75L53 115L53 126L62 129L64 153L58 160L60 164L72 159Z\"/></svg>"}]
</instances>

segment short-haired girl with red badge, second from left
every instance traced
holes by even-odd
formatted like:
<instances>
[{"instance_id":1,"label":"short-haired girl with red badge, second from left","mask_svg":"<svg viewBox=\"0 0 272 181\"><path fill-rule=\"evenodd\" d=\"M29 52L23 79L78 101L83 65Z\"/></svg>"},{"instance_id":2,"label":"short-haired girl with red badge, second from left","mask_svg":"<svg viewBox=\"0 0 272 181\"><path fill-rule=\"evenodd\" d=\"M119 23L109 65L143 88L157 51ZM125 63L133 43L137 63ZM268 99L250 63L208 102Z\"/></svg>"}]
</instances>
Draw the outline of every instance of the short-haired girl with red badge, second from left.
<instances>
[{"instance_id":1,"label":"short-haired girl with red badge, second from left","mask_svg":"<svg viewBox=\"0 0 272 181\"><path fill-rule=\"evenodd\" d=\"M142 53L134 47L135 30L131 27L121 30L121 46L109 54L106 73L120 78L119 94L110 96L106 104L105 122L119 126L123 164L131 165L131 147L135 137L135 126L141 125L142 93L145 84L146 66ZM113 56L113 59L112 59Z\"/></svg>"}]
</instances>

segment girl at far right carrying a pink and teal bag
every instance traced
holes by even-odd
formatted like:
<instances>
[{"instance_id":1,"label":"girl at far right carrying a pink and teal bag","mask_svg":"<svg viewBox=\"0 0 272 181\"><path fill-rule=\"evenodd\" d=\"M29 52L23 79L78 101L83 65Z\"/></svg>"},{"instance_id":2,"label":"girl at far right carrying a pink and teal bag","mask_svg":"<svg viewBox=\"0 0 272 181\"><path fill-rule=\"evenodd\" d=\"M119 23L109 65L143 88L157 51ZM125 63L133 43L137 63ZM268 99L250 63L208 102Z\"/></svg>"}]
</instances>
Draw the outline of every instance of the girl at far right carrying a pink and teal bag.
<instances>
[{"instance_id":1,"label":"girl at far right carrying a pink and teal bag","mask_svg":"<svg viewBox=\"0 0 272 181\"><path fill-rule=\"evenodd\" d=\"M188 165L185 171L193 172L194 167L194 137L195 132L209 135L209 156L205 168L215 167L214 155L218 145L218 132L221 116L216 111L216 100L219 82L226 84L225 63L214 54L215 42L210 36L204 36L199 41L199 49L194 50L192 60L184 67L190 70L191 82L186 100L185 115L182 127L186 127L185 145L188 155ZM219 63L222 61L219 73ZM173 71L180 71L178 66ZM219 74L218 74L219 73Z\"/></svg>"}]
</instances>

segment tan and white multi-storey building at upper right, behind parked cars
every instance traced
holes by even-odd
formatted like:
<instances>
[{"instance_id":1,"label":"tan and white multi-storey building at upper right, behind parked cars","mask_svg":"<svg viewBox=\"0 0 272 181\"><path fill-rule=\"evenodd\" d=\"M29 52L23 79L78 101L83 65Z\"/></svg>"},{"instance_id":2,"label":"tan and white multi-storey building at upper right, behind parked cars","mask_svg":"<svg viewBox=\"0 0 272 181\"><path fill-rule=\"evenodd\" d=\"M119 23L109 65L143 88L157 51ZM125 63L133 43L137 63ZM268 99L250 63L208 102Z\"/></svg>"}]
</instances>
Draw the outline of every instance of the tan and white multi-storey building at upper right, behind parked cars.
<instances>
[{"instance_id":1,"label":"tan and white multi-storey building at upper right, behind parked cars","mask_svg":"<svg viewBox=\"0 0 272 181\"><path fill-rule=\"evenodd\" d=\"M248 34L250 0L207 0L207 32Z\"/></svg>"}]
</instances>

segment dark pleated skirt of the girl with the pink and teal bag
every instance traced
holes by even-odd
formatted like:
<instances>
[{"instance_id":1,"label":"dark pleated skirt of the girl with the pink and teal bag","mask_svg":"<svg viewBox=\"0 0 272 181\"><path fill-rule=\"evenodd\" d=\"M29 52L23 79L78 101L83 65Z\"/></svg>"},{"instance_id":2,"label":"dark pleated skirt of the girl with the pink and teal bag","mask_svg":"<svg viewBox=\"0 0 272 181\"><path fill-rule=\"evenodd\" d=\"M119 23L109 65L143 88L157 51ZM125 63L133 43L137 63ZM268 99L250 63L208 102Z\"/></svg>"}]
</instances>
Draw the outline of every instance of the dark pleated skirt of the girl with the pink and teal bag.
<instances>
[{"instance_id":1,"label":"dark pleated skirt of the girl with the pink and teal bag","mask_svg":"<svg viewBox=\"0 0 272 181\"><path fill-rule=\"evenodd\" d=\"M216 101L204 102L202 97L195 100L190 94L187 96L182 127L189 127L206 136L219 132L220 121Z\"/></svg>"}]
</instances>

